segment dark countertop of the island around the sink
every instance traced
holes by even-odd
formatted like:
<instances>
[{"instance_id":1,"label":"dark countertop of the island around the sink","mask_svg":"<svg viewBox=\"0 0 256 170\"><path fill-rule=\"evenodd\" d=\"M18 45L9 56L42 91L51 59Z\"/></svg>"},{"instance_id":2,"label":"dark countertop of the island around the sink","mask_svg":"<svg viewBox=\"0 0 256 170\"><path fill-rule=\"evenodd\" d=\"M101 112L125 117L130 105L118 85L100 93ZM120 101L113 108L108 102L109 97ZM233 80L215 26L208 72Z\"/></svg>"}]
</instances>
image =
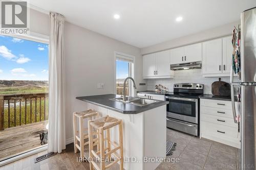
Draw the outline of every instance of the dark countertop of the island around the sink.
<instances>
[{"instance_id":1,"label":"dark countertop of the island around the sink","mask_svg":"<svg viewBox=\"0 0 256 170\"><path fill-rule=\"evenodd\" d=\"M160 101L146 106L136 106L129 103L122 103L118 101L112 101L110 99L118 98L120 95L116 94L103 94L103 95L90 95L90 96L79 96L76 99L88 102L100 107L104 107L110 110L117 111L123 114L137 114L146 110L151 110L159 106L168 104L166 101Z\"/></svg>"}]
</instances>

